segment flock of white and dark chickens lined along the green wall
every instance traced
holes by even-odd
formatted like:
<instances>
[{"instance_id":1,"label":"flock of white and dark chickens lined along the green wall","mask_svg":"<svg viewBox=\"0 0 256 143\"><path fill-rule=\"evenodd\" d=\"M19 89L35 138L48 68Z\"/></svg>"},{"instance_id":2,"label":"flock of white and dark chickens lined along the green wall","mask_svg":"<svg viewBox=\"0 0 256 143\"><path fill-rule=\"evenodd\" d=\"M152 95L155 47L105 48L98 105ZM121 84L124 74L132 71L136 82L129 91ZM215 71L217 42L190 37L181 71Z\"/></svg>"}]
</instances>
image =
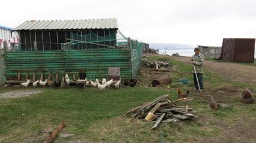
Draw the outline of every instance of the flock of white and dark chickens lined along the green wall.
<instances>
[{"instance_id":1,"label":"flock of white and dark chickens lined along the green wall","mask_svg":"<svg viewBox=\"0 0 256 143\"><path fill-rule=\"evenodd\" d=\"M121 80L117 81L117 83L114 83L114 80L109 80L107 81L106 78L102 79L102 82L100 83L98 79L96 79L96 81L92 81L92 80L87 80L87 78L85 78L85 80L81 80L80 78L78 78L78 83L81 82L85 82L85 85L87 87L92 86L92 87L98 87L98 89L100 90L100 92L102 92L102 90L105 90L106 88L110 87L110 86L114 86L115 89L119 89L120 84L121 84ZM131 80L124 80L124 86L130 86L130 87L134 87L135 84L137 83L138 80L136 79L131 79ZM30 80L27 80L26 83L20 83L20 85L24 88L24 87L28 87L30 83ZM49 87L64 87L67 86L69 88L70 86L70 79L69 79L69 75L66 74L65 77L62 77L61 81L50 81L49 79L46 79L45 81L41 81L41 80L37 80L34 83L32 83L32 86L37 87L37 85L40 86L49 86Z\"/></svg>"}]
</instances>

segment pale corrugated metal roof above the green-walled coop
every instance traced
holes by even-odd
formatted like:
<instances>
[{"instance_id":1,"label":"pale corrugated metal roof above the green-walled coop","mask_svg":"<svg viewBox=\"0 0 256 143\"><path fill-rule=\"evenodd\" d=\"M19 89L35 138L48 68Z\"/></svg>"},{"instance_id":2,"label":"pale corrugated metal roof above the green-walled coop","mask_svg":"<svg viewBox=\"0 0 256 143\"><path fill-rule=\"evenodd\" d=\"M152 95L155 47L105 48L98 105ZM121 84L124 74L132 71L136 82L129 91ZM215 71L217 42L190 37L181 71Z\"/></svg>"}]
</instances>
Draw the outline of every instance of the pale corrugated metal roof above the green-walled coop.
<instances>
[{"instance_id":1,"label":"pale corrugated metal roof above the green-walled coop","mask_svg":"<svg viewBox=\"0 0 256 143\"><path fill-rule=\"evenodd\" d=\"M118 29L118 26L117 19L31 20L14 28L16 31L47 29Z\"/></svg>"}]
</instances>

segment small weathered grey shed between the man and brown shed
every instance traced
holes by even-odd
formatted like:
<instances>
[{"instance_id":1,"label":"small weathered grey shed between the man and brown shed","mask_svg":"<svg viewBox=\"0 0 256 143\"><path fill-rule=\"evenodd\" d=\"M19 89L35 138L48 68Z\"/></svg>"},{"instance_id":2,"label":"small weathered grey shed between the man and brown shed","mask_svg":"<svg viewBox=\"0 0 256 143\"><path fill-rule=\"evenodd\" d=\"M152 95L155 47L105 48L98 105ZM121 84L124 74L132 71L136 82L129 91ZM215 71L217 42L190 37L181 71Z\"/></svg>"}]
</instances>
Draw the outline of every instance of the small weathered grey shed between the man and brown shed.
<instances>
[{"instance_id":1,"label":"small weathered grey shed between the man and brown shed","mask_svg":"<svg viewBox=\"0 0 256 143\"><path fill-rule=\"evenodd\" d=\"M198 48L205 58L219 58L221 56L221 47L198 45Z\"/></svg>"}]
</instances>

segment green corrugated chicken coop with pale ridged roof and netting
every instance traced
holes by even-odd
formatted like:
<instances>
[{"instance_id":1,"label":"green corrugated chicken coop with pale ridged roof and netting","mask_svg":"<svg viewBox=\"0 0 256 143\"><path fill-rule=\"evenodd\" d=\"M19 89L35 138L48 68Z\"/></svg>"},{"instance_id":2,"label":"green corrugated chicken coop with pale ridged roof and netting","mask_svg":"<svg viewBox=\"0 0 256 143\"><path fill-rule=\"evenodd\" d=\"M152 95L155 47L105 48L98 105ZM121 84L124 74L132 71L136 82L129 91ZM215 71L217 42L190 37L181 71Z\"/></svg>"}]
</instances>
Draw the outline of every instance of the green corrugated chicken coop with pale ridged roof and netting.
<instances>
[{"instance_id":1,"label":"green corrugated chicken coop with pale ridged roof and netting","mask_svg":"<svg viewBox=\"0 0 256 143\"><path fill-rule=\"evenodd\" d=\"M117 19L26 21L14 29L19 48L4 51L3 79L19 83L52 78L64 73L77 80L79 71L95 80L120 67L125 78L136 77L142 59L142 42L118 30Z\"/></svg>"}]
</instances>

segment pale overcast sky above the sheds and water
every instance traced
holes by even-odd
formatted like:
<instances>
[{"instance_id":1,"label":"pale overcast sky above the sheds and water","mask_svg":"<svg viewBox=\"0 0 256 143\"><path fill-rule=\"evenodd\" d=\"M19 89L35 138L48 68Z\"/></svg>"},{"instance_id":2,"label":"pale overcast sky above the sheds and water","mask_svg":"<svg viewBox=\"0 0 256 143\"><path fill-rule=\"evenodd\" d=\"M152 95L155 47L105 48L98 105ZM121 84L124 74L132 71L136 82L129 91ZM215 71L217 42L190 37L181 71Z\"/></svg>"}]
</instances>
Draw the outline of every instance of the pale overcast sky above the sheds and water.
<instances>
[{"instance_id":1,"label":"pale overcast sky above the sheds and water","mask_svg":"<svg viewBox=\"0 0 256 143\"><path fill-rule=\"evenodd\" d=\"M124 35L144 42L221 45L222 38L256 37L255 0L5 2L0 25L11 28L26 20L116 18Z\"/></svg>"}]
</instances>

